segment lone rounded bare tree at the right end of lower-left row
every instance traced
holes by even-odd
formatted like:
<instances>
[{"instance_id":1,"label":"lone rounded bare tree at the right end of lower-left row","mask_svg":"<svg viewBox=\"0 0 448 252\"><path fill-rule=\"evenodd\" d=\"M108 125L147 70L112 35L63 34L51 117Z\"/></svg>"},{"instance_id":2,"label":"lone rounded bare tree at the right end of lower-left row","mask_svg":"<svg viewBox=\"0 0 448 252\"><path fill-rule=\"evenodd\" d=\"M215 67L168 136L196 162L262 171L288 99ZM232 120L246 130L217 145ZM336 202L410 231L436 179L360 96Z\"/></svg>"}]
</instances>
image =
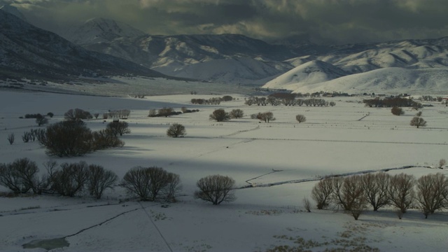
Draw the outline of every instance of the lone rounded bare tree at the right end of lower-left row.
<instances>
[{"instance_id":1,"label":"lone rounded bare tree at the right end of lower-left row","mask_svg":"<svg viewBox=\"0 0 448 252\"><path fill-rule=\"evenodd\" d=\"M195 197L214 205L221 202L234 201L235 180L228 176L211 175L197 181L196 186L199 190L195 191Z\"/></svg>"}]
</instances>

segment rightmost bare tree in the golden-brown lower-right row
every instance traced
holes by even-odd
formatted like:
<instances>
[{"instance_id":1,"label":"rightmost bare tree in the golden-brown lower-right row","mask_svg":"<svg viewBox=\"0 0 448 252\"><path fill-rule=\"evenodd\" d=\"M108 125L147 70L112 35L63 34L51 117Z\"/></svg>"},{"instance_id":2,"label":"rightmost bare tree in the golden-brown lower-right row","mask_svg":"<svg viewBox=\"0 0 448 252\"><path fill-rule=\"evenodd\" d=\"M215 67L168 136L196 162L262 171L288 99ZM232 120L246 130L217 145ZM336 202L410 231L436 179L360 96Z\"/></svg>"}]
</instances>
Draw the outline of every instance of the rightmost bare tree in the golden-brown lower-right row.
<instances>
[{"instance_id":1,"label":"rightmost bare tree in the golden-brown lower-right row","mask_svg":"<svg viewBox=\"0 0 448 252\"><path fill-rule=\"evenodd\" d=\"M444 174L428 174L417 180L416 201L425 218L436 210L448 207L447 199L448 179Z\"/></svg>"}]
</instances>

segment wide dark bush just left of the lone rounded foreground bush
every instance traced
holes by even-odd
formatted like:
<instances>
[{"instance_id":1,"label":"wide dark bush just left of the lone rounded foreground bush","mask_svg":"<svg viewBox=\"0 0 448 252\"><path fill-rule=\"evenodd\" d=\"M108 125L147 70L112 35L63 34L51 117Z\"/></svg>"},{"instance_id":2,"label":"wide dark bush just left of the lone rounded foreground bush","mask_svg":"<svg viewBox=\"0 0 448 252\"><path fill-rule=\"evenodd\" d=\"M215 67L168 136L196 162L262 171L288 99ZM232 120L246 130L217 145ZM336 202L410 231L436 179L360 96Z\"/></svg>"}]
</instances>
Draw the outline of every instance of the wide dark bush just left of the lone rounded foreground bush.
<instances>
[{"instance_id":1,"label":"wide dark bush just left of the lone rounded foreground bush","mask_svg":"<svg viewBox=\"0 0 448 252\"><path fill-rule=\"evenodd\" d=\"M155 201L161 197L174 201L179 190L179 175L172 174L159 167L134 167L126 172L120 184L130 195L139 200Z\"/></svg>"}]
</instances>

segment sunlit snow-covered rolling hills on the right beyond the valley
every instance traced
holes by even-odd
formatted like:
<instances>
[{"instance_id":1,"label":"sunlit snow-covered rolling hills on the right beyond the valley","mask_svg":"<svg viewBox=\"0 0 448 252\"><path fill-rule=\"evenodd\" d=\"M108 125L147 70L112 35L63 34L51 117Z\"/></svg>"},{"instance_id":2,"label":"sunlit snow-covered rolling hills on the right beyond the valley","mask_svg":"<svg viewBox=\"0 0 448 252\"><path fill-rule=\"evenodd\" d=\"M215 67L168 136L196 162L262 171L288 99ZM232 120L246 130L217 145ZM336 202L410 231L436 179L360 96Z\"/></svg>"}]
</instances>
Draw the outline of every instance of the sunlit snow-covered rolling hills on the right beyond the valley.
<instances>
[{"instance_id":1,"label":"sunlit snow-covered rolling hills on the right beyond the valley","mask_svg":"<svg viewBox=\"0 0 448 252\"><path fill-rule=\"evenodd\" d=\"M296 66L263 87L294 92L448 92L448 38L338 45L315 55L288 59ZM308 64L325 62L304 76ZM322 63L320 63L322 64ZM339 76L335 75L335 69ZM299 71L299 74L295 73ZM345 73L345 74L342 74ZM296 75L296 76L294 76ZM317 76L320 76L318 78Z\"/></svg>"}]
</instances>

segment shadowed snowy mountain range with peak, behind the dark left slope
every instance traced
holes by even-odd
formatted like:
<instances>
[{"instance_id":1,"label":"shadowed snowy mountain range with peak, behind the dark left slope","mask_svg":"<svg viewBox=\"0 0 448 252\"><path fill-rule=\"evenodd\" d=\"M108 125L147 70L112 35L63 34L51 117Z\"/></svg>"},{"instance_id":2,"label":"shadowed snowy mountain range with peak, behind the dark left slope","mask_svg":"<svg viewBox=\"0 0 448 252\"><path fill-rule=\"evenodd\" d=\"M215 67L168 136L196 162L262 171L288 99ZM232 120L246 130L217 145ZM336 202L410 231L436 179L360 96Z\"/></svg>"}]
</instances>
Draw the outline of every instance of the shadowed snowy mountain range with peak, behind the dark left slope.
<instances>
[{"instance_id":1,"label":"shadowed snowy mountain range with peak, behind the dark left slope","mask_svg":"<svg viewBox=\"0 0 448 252\"><path fill-rule=\"evenodd\" d=\"M170 76L216 82L276 76L292 68L281 61L300 56L284 45L271 45L238 34L158 36L134 32L134 28L123 24L120 29L109 29L118 27L111 24L118 22L90 20L64 36L87 50L121 57Z\"/></svg>"}]
</instances>

